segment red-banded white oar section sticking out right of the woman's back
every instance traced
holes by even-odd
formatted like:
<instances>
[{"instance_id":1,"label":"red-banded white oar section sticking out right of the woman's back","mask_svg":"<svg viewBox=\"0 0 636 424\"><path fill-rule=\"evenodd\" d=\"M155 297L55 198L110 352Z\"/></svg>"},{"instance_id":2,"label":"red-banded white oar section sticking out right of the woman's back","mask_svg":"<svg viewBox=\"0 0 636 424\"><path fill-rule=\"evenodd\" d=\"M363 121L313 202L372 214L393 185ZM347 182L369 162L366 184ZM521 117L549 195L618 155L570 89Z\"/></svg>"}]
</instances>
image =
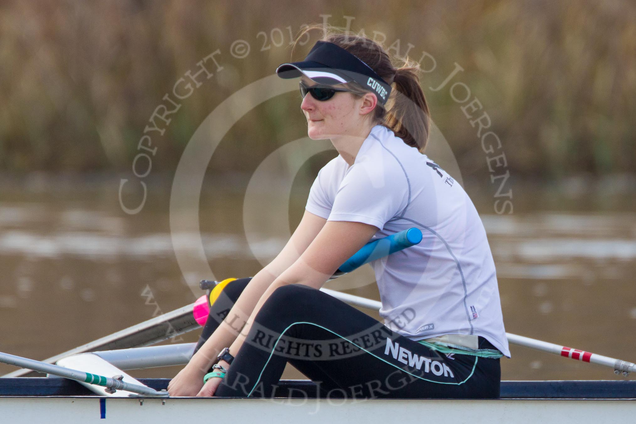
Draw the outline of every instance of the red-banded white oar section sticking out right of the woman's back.
<instances>
[{"instance_id":1,"label":"red-banded white oar section sticking out right of the woman's back","mask_svg":"<svg viewBox=\"0 0 636 424\"><path fill-rule=\"evenodd\" d=\"M572 358L583 362L590 362L590 364L614 368L614 373L616 374L623 373L624 376L627 376L630 372L636 371L636 364L625 360L598 355L598 353L585 352L584 350L572 349L567 346L555 345L547 341L530 339L516 334L510 334L509 332L506 333L506 337L508 337L508 343L512 343L513 345L525 346L530 349L541 350L541 352L552 353L553 355L560 355L565 358Z\"/></svg>"}]
</instances>

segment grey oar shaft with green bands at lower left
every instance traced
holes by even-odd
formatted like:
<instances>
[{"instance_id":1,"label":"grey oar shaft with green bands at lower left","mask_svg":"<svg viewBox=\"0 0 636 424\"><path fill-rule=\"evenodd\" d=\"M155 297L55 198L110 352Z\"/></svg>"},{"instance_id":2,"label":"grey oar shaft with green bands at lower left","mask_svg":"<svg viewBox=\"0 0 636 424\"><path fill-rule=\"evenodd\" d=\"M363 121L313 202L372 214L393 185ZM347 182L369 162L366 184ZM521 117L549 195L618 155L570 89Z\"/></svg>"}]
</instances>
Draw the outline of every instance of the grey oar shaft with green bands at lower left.
<instances>
[{"instance_id":1,"label":"grey oar shaft with green bands at lower left","mask_svg":"<svg viewBox=\"0 0 636 424\"><path fill-rule=\"evenodd\" d=\"M0 352L0 362L4 362L4 364L9 365L15 365L17 367L32 369L34 371L38 371L38 373L52 374L54 376L68 378L70 380L82 381L84 383L90 383L102 387L114 388L115 390L125 390L127 392L139 393L141 395L163 396L162 393L159 393L155 389L150 387L125 383L125 381L116 380L110 377L99 376L97 374L85 373L84 371L78 371L76 369L60 367L53 364L46 364L45 362L40 362L39 360L10 355L9 353Z\"/></svg>"}]
</instances>

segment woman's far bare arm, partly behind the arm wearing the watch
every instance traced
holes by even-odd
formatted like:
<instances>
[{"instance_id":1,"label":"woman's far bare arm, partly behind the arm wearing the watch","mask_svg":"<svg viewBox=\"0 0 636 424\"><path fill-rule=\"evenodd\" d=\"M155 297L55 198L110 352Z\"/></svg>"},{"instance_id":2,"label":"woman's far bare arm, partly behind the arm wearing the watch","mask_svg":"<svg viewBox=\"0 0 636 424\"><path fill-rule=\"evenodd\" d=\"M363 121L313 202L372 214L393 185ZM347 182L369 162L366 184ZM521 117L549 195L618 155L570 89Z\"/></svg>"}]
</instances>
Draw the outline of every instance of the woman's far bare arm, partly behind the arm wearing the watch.
<instances>
[{"instance_id":1,"label":"woman's far bare arm, partly behind the arm wearing the watch","mask_svg":"<svg viewBox=\"0 0 636 424\"><path fill-rule=\"evenodd\" d=\"M270 264L254 275L218 329L192 357L193 365L207 371L216 362L216 355L237 338L237 329L243 327L267 287L298 260L325 222L326 219L305 211L289 242Z\"/></svg>"}]
</instances>

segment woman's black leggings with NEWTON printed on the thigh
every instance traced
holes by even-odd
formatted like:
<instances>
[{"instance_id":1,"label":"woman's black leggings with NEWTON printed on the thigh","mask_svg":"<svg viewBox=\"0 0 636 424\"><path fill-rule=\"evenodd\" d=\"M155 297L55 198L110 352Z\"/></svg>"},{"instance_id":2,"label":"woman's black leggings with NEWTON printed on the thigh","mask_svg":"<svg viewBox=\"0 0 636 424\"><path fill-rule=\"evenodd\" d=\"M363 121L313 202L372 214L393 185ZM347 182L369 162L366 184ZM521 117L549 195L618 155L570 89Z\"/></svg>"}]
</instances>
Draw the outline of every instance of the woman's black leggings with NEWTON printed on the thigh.
<instances>
[{"instance_id":1,"label":"woman's black leggings with NEWTON printed on the thigh","mask_svg":"<svg viewBox=\"0 0 636 424\"><path fill-rule=\"evenodd\" d=\"M195 352L228 315L249 280L226 285L212 305ZM479 347L494 348L481 337ZM276 396L289 362L317 384L308 397L499 397L499 359L431 350L335 297L300 284L272 293L235 355L216 396Z\"/></svg>"}]
</instances>

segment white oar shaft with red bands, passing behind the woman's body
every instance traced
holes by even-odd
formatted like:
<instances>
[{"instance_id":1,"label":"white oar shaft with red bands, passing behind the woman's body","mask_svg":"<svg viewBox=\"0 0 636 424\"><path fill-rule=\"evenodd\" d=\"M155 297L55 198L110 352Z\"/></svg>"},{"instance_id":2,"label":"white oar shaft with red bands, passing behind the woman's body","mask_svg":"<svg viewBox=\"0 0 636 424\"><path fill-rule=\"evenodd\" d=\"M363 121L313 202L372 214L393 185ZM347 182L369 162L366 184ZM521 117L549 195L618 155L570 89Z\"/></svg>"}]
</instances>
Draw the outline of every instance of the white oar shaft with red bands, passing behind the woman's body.
<instances>
[{"instance_id":1,"label":"white oar shaft with red bands, passing behind the woman's body","mask_svg":"<svg viewBox=\"0 0 636 424\"><path fill-rule=\"evenodd\" d=\"M354 296L353 294L336 292L329 289L321 289L321 291L326 292L345 303L349 303L353 306L359 306L360 308L377 311L382 306L382 303L378 301L366 299L365 297ZM636 372L636 364L625 360L614 359L598 355L597 353L585 352L584 350L572 349L567 346L555 345L554 343L548 343L547 341L518 336L517 334L511 334L509 332L506 333L506 337L508 338L508 343L511 345L523 346L530 349L540 350L541 352L552 353L553 355L581 360L583 362L590 362L590 364L610 367L614 369L617 374L623 373L626 375L626 373Z\"/></svg>"}]
</instances>

